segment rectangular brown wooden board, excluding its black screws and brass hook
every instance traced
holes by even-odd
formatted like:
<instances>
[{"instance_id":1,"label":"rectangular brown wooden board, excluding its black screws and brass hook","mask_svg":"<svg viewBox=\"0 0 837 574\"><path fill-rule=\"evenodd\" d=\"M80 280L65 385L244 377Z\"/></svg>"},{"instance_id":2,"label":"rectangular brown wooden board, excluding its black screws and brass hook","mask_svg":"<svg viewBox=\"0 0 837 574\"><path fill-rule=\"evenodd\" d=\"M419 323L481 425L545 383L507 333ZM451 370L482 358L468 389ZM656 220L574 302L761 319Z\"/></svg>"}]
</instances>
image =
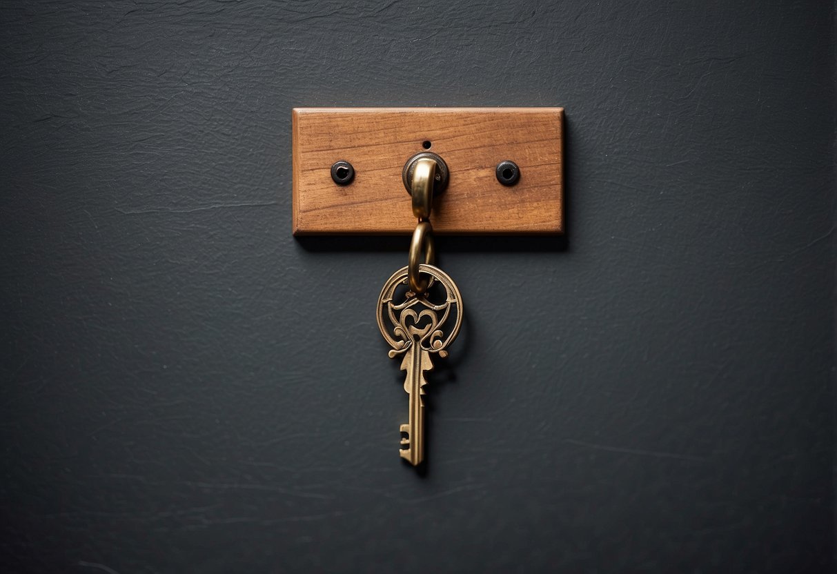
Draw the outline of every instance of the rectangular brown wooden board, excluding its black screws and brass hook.
<instances>
[{"instance_id":1,"label":"rectangular brown wooden board, excluding its black screws and brass hook","mask_svg":"<svg viewBox=\"0 0 837 574\"><path fill-rule=\"evenodd\" d=\"M562 108L295 109L294 234L412 233L401 173L424 141L450 171L434 232L562 233L562 120ZM339 160L351 185L331 180ZM515 186L497 182L503 160L521 168Z\"/></svg>"}]
</instances>

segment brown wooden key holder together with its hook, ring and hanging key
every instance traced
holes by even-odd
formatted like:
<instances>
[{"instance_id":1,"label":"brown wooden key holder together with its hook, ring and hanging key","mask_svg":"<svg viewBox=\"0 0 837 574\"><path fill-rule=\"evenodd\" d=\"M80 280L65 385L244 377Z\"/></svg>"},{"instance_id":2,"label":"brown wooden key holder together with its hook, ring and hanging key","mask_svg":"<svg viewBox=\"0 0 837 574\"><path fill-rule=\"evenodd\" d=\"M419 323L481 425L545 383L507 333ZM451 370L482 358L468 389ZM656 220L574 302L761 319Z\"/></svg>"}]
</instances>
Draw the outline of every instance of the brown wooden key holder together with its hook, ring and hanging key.
<instances>
[{"instance_id":1,"label":"brown wooden key holder together with its hook, ring and hanging key","mask_svg":"<svg viewBox=\"0 0 837 574\"><path fill-rule=\"evenodd\" d=\"M426 373L463 321L459 287L435 264L434 231L562 233L562 120L562 108L293 112L294 234L413 233L407 265L376 306L388 356L405 372L398 454L408 464L424 461Z\"/></svg>"}]
</instances>

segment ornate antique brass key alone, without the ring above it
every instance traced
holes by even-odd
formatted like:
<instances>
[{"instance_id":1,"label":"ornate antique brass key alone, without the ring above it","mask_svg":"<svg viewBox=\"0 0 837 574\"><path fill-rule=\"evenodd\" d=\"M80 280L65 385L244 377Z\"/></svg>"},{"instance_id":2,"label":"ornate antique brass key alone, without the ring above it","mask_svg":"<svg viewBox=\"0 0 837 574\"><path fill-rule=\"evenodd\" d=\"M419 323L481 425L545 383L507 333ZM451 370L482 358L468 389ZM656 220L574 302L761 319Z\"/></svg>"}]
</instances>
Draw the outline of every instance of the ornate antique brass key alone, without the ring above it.
<instances>
[{"instance_id":1,"label":"ornate antique brass key alone, without the ring above it","mask_svg":"<svg viewBox=\"0 0 837 574\"><path fill-rule=\"evenodd\" d=\"M419 271L444 287L444 300L439 296L436 303L431 294L408 290L402 295L403 300L396 302L396 290L408 284L407 267L398 269L387 280L377 300L378 329L393 347L389 357L403 355L404 391L410 398L409 422L401 425L401 433L406 436L401 438L400 454L413 466L424 460L424 373L433 370L431 354L448 356L445 349L462 325L462 296L454 280L433 265L420 264ZM449 330L444 329L446 326Z\"/></svg>"}]
</instances>

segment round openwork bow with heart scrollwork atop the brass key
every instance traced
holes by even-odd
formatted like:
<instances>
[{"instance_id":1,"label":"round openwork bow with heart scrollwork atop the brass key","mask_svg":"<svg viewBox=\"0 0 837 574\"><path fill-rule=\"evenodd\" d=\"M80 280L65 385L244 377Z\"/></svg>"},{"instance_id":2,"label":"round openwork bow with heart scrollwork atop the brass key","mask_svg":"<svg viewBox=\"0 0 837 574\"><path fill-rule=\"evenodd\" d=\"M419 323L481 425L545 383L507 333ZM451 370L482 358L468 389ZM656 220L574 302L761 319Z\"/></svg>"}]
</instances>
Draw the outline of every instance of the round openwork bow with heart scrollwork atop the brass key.
<instances>
[{"instance_id":1,"label":"round openwork bow with heart scrollwork atop the brass key","mask_svg":"<svg viewBox=\"0 0 837 574\"><path fill-rule=\"evenodd\" d=\"M447 356L448 352L444 349L459 334L462 324L462 298L453 279L433 265L422 264L420 270L443 286L444 302L437 305L429 300L427 294L408 291L403 302L397 304L393 297L398 286L407 282L407 268L399 269L388 279L378 299L377 325L384 339L393 347L393 350L389 351L390 358L406 352L414 343L424 351L438 353L441 357ZM385 325L385 317L391 327ZM453 320L452 326L447 325L449 320ZM450 327L447 336L445 326Z\"/></svg>"}]
</instances>

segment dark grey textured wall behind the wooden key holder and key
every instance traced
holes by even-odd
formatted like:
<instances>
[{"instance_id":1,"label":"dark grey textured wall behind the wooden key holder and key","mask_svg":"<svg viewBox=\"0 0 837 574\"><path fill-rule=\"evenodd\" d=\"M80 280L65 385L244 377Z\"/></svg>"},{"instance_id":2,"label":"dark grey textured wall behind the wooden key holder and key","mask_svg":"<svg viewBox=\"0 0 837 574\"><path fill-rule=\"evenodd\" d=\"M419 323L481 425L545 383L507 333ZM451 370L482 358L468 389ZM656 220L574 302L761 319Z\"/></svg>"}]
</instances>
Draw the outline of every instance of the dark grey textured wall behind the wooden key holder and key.
<instances>
[{"instance_id":1,"label":"dark grey textured wall behind the wooden key holder and key","mask_svg":"<svg viewBox=\"0 0 837 574\"><path fill-rule=\"evenodd\" d=\"M3 571L834 566L831 3L6 2ZM295 105L564 105L567 237L290 234Z\"/></svg>"}]
</instances>

